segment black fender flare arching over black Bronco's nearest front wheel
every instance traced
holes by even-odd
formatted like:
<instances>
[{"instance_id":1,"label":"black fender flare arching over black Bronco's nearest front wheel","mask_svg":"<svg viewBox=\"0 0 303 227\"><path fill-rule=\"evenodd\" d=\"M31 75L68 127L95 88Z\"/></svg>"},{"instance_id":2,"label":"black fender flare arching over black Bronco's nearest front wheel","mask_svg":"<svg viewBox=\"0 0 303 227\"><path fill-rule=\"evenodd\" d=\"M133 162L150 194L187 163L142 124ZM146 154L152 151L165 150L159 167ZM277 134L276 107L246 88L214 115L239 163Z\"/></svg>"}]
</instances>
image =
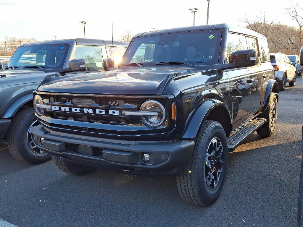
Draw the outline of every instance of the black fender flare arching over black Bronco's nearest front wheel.
<instances>
[{"instance_id":1,"label":"black fender flare arching over black Bronco's nearest front wheel","mask_svg":"<svg viewBox=\"0 0 303 227\"><path fill-rule=\"evenodd\" d=\"M208 99L205 100L199 107L192 111L185 123L185 132L181 136L182 139L195 138L199 131L199 128L202 122L208 117L209 113L214 110L216 107L224 107L226 111L229 110L227 106L217 99ZM229 113L230 115L230 113ZM231 118L230 118L231 120Z\"/></svg>"}]
</instances>

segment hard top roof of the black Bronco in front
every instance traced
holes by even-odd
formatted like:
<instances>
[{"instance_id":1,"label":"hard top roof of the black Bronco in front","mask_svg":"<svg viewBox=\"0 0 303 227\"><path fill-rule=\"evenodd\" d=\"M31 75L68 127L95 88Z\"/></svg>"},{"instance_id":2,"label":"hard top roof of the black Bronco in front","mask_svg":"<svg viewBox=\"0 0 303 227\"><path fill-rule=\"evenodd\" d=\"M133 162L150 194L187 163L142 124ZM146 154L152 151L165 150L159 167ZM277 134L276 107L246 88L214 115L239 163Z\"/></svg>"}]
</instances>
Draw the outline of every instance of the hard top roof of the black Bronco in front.
<instances>
[{"instance_id":1,"label":"hard top roof of the black Bronco in front","mask_svg":"<svg viewBox=\"0 0 303 227\"><path fill-rule=\"evenodd\" d=\"M148 31L144 33L140 33L135 35L134 37L144 37L150 35L161 35L161 34L168 34L168 33L175 33L175 32L185 32L185 31L199 31L199 30L214 30L220 28L227 28L228 31L241 33L245 35L250 35L258 38L266 39L264 35L261 35L258 32L252 31L248 28L242 28L240 26L228 25L228 24L215 24L215 25L199 25L199 26L190 26L190 27L182 27L182 28L170 28L158 31Z\"/></svg>"}]
</instances>

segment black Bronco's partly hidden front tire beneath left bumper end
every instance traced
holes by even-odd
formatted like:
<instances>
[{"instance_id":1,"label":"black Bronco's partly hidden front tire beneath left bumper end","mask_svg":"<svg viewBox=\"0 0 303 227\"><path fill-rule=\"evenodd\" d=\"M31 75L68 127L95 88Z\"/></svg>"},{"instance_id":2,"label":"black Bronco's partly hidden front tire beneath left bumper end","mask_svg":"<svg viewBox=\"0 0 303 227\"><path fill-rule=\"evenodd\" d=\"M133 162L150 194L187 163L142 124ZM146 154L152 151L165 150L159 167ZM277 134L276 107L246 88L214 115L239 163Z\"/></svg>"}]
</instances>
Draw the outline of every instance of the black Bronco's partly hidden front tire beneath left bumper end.
<instances>
[{"instance_id":1,"label":"black Bronco's partly hidden front tire beneath left bumper end","mask_svg":"<svg viewBox=\"0 0 303 227\"><path fill-rule=\"evenodd\" d=\"M91 173L95 170L95 168L90 166L84 166L77 163L73 163L71 161L52 156L52 159L54 160L56 166L63 172L75 175L75 176L81 176L88 173Z\"/></svg>"}]
</instances>

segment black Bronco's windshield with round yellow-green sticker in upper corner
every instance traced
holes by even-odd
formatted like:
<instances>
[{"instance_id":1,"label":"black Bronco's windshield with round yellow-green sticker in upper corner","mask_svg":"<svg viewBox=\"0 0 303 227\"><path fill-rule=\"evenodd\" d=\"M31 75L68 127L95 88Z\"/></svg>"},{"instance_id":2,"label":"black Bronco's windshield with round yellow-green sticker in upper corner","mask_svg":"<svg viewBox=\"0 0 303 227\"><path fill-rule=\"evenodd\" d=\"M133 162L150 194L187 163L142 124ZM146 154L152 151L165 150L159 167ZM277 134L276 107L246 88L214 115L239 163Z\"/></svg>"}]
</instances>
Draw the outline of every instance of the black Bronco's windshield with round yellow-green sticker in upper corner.
<instances>
[{"instance_id":1,"label":"black Bronco's windshield with round yellow-green sticker in upper corner","mask_svg":"<svg viewBox=\"0 0 303 227\"><path fill-rule=\"evenodd\" d=\"M192 65L218 64L221 31L190 31L135 38L121 62L155 66L181 61Z\"/></svg>"}]
</instances>

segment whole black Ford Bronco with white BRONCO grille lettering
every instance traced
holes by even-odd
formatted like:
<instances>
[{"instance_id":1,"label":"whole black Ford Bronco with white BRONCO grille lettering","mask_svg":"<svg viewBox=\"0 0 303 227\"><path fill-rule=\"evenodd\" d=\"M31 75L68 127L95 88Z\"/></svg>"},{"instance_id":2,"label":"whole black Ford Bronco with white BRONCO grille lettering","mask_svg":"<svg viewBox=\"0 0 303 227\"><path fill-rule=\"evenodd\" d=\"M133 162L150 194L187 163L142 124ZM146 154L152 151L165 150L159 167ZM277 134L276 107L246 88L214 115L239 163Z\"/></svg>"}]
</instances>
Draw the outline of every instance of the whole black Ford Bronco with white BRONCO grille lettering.
<instances>
[{"instance_id":1,"label":"whole black Ford Bronco with white BRONCO grille lettering","mask_svg":"<svg viewBox=\"0 0 303 227\"><path fill-rule=\"evenodd\" d=\"M225 24L135 35L105 72L59 77L34 92L35 145L62 171L176 175L180 195L210 205L232 152L274 133L278 84L267 40Z\"/></svg>"}]
</instances>

